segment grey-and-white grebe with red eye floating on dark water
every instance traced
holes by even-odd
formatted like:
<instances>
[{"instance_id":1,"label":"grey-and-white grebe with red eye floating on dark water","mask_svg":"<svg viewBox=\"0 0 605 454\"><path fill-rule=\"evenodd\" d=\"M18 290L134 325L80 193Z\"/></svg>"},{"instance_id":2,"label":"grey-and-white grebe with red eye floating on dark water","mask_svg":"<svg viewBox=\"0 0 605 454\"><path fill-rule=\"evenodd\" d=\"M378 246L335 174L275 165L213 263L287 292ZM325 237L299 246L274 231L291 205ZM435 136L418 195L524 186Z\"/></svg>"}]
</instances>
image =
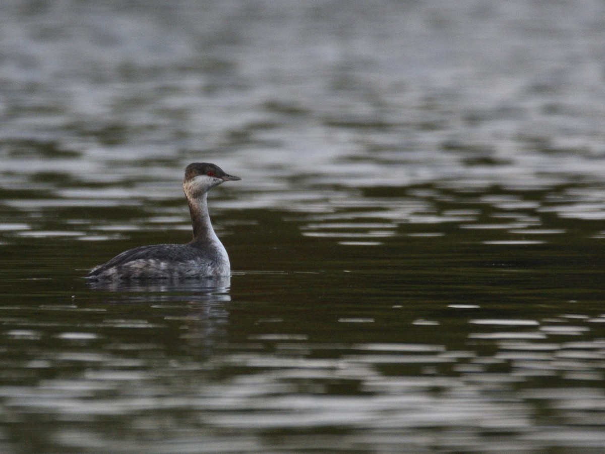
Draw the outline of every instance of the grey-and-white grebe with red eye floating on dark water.
<instances>
[{"instance_id":1,"label":"grey-and-white grebe with red eye floating on dark water","mask_svg":"<svg viewBox=\"0 0 605 454\"><path fill-rule=\"evenodd\" d=\"M215 234L208 214L208 191L226 181L241 180L218 166L194 162L185 169L183 190L193 225L193 240L186 245L140 246L116 255L93 268L93 280L183 279L225 277L231 273L229 256Z\"/></svg>"}]
</instances>

